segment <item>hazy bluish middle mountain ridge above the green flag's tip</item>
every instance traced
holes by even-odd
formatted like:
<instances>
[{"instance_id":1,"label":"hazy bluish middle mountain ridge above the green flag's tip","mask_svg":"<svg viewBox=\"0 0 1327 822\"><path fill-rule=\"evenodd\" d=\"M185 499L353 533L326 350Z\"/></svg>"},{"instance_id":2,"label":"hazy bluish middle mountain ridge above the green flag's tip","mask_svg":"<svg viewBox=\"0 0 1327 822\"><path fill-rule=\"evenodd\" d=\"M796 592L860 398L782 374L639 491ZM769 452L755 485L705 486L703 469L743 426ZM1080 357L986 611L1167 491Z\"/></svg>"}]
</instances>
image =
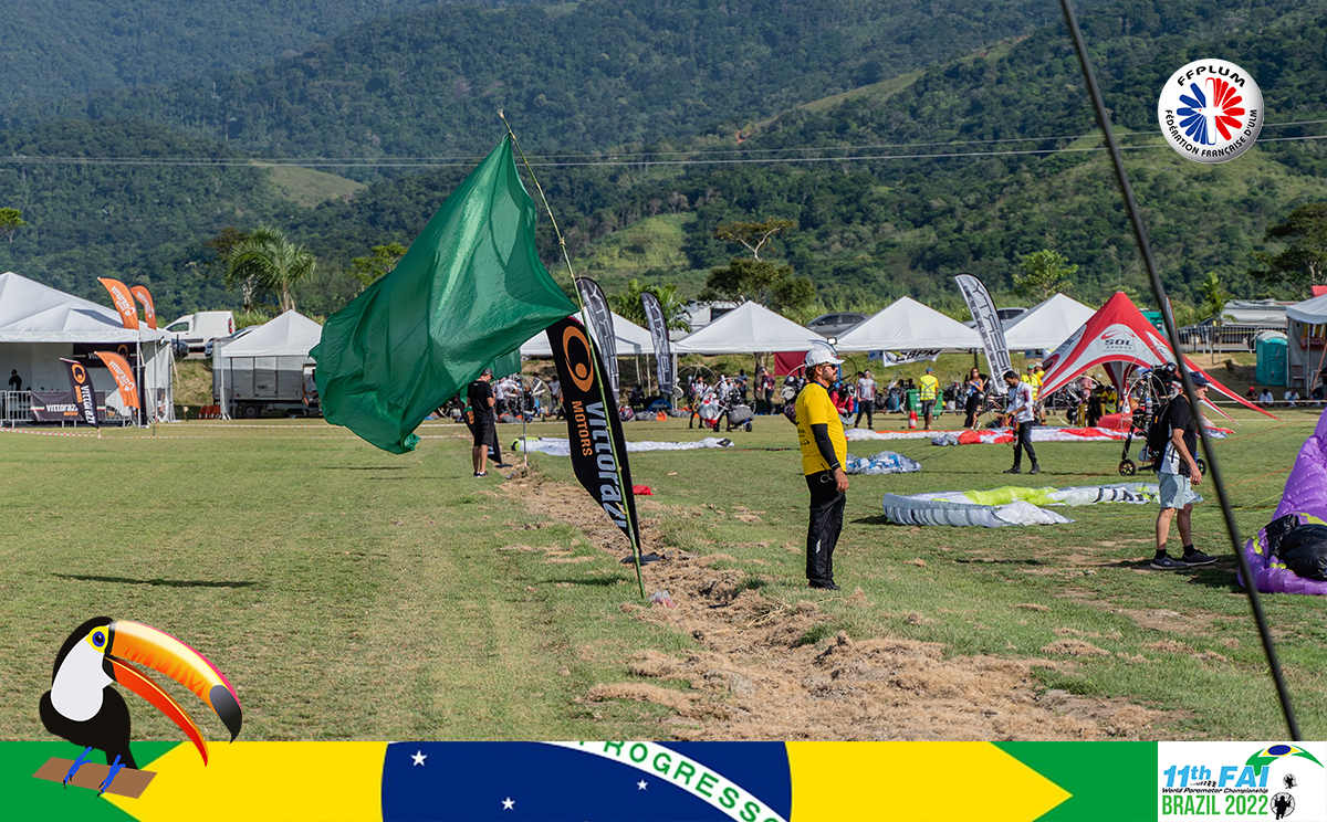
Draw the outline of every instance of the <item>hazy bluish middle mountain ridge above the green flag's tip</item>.
<instances>
[{"instance_id":1,"label":"hazy bluish middle mountain ridge above the green flag's tip","mask_svg":"<svg viewBox=\"0 0 1327 822\"><path fill-rule=\"evenodd\" d=\"M143 118L273 156L374 160L484 151L506 109L533 147L609 151L738 129L1058 13L1046 0L454 4L252 72L9 106L0 126Z\"/></svg>"}]
</instances>

